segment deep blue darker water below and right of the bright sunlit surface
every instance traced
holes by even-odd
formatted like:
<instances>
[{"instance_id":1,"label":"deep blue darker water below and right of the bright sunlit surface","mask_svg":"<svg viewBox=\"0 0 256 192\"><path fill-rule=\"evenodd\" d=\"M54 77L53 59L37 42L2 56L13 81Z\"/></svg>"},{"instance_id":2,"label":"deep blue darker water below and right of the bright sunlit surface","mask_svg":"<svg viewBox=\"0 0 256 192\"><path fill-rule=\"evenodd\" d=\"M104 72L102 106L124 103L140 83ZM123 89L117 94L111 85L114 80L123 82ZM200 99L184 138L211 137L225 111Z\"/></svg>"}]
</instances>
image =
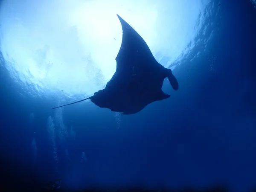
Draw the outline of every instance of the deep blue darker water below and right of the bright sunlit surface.
<instances>
[{"instance_id":1,"label":"deep blue darker water below and right of the bright sunlit surface","mask_svg":"<svg viewBox=\"0 0 256 192\"><path fill-rule=\"evenodd\" d=\"M61 179L60 190L255 189L256 9L250 0L219 2L202 13L208 27L198 43L175 61L180 89L164 81L171 97L134 115L90 102L54 111L56 101L24 93L1 60L1 187L34 189L34 174Z\"/></svg>"}]
</instances>

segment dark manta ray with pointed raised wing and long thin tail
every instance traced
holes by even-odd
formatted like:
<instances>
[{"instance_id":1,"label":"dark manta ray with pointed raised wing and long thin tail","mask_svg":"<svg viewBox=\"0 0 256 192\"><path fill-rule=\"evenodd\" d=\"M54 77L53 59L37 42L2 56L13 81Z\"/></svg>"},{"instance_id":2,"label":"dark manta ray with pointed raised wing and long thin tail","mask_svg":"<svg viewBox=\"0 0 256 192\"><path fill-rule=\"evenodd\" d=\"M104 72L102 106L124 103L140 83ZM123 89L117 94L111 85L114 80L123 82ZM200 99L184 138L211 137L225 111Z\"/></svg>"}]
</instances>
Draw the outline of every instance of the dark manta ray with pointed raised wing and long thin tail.
<instances>
[{"instance_id":1,"label":"dark manta ray with pointed raised wing and long thin tail","mask_svg":"<svg viewBox=\"0 0 256 192\"><path fill-rule=\"evenodd\" d=\"M170 97L162 91L166 77L174 90L178 90L178 82L172 70L156 61L143 38L119 15L117 17L122 25L122 44L116 56L116 72L105 89L81 101L90 99L100 108L134 114L154 101ZM56 108L63 106L66 105Z\"/></svg>"}]
</instances>

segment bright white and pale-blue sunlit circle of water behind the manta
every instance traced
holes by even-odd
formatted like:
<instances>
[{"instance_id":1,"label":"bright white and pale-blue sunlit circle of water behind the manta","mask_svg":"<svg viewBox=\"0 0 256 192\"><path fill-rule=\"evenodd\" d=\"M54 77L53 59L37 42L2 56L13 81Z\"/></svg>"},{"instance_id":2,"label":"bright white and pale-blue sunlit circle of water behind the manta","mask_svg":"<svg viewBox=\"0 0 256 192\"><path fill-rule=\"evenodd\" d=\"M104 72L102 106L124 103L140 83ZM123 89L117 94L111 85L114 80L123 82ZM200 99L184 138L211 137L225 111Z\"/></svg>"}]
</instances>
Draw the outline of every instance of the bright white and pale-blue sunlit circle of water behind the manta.
<instances>
[{"instance_id":1,"label":"bright white and pale-blue sunlit circle of water behind the manta","mask_svg":"<svg viewBox=\"0 0 256 192\"><path fill-rule=\"evenodd\" d=\"M3 0L0 49L33 96L79 99L105 87L122 41L119 14L157 61L176 61L201 29L209 0ZM175 66L172 66L172 68Z\"/></svg>"}]
</instances>

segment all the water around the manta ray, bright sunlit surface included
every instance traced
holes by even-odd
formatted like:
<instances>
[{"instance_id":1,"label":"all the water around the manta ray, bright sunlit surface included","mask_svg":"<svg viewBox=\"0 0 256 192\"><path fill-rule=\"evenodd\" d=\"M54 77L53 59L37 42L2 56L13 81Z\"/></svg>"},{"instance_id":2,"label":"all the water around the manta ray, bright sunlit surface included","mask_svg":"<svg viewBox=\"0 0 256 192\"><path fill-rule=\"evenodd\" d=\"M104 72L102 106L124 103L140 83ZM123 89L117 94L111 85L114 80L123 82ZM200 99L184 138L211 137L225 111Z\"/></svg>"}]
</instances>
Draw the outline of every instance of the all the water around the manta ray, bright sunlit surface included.
<instances>
[{"instance_id":1,"label":"all the water around the manta ray, bright sunlit surface included","mask_svg":"<svg viewBox=\"0 0 256 192\"><path fill-rule=\"evenodd\" d=\"M255 0L0 6L2 191L40 191L32 178L62 180L59 191L256 189ZM122 41L116 13L173 70L180 89L165 80L171 97L133 115L90 101L52 110L92 95L113 75Z\"/></svg>"}]
</instances>

